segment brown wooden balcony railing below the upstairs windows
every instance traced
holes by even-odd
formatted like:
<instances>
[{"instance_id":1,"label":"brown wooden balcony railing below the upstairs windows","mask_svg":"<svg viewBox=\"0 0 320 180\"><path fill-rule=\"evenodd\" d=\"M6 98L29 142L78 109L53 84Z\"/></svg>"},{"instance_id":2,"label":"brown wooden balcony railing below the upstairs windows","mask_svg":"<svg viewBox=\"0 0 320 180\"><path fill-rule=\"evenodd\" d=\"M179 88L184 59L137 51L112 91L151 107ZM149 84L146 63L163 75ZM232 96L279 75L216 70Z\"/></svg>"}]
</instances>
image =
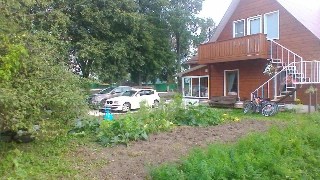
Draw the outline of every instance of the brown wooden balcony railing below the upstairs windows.
<instances>
[{"instance_id":1,"label":"brown wooden balcony railing below the upstairs windows","mask_svg":"<svg viewBox=\"0 0 320 180\"><path fill-rule=\"evenodd\" d=\"M199 45L198 64L267 59L265 34L254 34Z\"/></svg>"}]
</instances>

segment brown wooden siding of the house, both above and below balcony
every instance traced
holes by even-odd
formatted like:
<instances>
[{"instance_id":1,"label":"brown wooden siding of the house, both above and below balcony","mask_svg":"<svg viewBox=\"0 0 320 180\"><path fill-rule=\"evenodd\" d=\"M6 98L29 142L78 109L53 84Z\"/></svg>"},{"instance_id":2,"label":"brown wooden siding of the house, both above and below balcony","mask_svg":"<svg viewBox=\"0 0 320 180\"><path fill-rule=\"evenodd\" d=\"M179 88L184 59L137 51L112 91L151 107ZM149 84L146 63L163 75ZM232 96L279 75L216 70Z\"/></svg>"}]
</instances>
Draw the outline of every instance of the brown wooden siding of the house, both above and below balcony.
<instances>
[{"instance_id":1,"label":"brown wooden siding of the house, both above and below balcony","mask_svg":"<svg viewBox=\"0 0 320 180\"><path fill-rule=\"evenodd\" d=\"M232 22L235 20L245 19L245 34L247 34L247 18L260 14L262 14L261 28L262 33L264 33L263 14L277 10L279 10L280 38L275 41L300 55L304 61L320 60L320 40L276 0L241 0L217 40L221 41L232 38ZM312 17L310 17L310 21L312 21ZM270 54L270 43L267 44L267 52ZM211 65L211 95L223 95L223 70L239 69L239 95L240 98L246 97L249 99L251 92L270 78L262 73L265 64L266 60L248 60ZM307 69L310 69L310 67L307 67ZM302 85L302 88L297 91L297 98L303 104L308 103L308 94L305 94L304 91L309 86Z\"/></svg>"}]
</instances>

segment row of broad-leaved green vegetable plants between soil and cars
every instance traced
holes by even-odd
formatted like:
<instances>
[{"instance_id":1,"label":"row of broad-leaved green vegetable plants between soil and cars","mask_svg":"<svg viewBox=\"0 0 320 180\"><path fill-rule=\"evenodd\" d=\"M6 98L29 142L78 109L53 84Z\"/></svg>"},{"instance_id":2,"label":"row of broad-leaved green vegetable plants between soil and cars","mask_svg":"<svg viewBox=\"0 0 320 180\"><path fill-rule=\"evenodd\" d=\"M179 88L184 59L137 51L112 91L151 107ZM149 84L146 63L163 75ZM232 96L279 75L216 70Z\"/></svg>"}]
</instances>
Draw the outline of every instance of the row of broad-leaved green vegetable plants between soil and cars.
<instances>
[{"instance_id":1,"label":"row of broad-leaved green vegetable plants between soil and cars","mask_svg":"<svg viewBox=\"0 0 320 180\"><path fill-rule=\"evenodd\" d=\"M209 106L185 107L178 95L173 103L162 104L157 109L149 108L142 103L138 114L139 117L136 118L129 114L113 121L104 120L97 135L101 145L129 145L130 141L139 138L148 140L149 133L168 131L175 125L206 127L234 120L233 117Z\"/></svg>"}]
</instances>

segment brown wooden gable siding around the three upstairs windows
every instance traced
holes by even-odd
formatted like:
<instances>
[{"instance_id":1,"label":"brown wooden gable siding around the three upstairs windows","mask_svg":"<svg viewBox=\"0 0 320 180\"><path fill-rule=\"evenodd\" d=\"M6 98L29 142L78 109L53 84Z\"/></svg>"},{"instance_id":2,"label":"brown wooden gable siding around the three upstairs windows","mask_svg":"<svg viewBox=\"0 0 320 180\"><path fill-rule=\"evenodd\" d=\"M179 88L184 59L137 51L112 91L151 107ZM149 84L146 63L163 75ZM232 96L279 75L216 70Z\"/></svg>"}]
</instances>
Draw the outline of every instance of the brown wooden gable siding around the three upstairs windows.
<instances>
[{"instance_id":1,"label":"brown wooden gable siding around the three upstairs windows","mask_svg":"<svg viewBox=\"0 0 320 180\"><path fill-rule=\"evenodd\" d=\"M305 61L320 60L320 40L276 0L241 0L217 40L232 38L232 22L235 20L245 19L245 34L247 34L247 18L260 14L262 14L261 28L264 33L263 14L277 10L279 10L280 38L276 42L297 53ZM270 43L267 44L267 48L270 54Z\"/></svg>"}]
</instances>

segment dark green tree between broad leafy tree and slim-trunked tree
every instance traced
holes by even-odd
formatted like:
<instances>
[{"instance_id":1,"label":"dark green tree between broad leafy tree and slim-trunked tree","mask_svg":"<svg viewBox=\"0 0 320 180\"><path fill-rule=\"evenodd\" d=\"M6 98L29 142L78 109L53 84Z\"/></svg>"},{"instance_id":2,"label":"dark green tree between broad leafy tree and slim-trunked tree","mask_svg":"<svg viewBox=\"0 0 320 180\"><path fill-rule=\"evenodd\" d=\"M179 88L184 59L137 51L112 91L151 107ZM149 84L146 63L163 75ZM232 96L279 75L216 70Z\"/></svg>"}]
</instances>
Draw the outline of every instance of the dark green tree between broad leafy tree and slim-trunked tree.
<instances>
[{"instance_id":1,"label":"dark green tree between broad leafy tree and slim-trunked tree","mask_svg":"<svg viewBox=\"0 0 320 180\"><path fill-rule=\"evenodd\" d=\"M143 61L139 66L132 67L132 79L141 84L144 81L155 79L162 73L162 69L170 61L174 61L171 51L170 31L165 19L166 0L136 0L139 13L143 19L140 21L137 52ZM137 78L135 78L137 77Z\"/></svg>"}]
</instances>

